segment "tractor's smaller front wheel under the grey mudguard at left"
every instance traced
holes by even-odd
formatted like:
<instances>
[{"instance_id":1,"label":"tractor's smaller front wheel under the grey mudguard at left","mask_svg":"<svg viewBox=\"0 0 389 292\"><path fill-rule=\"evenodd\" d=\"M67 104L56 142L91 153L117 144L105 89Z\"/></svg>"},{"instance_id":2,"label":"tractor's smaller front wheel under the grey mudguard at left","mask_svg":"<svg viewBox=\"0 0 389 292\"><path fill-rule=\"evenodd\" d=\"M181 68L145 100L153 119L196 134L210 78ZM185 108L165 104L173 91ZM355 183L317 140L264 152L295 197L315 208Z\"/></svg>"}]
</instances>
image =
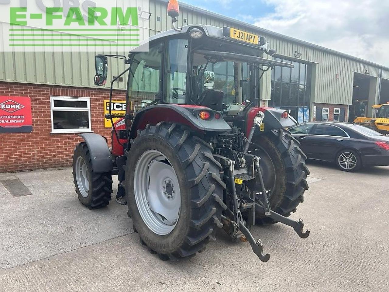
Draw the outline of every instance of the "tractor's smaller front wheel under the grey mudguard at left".
<instances>
[{"instance_id":1,"label":"tractor's smaller front wheel under the grey mudguard at left","mask_svg":"<svg viewBox=\"0 0 389 292\"><path fill-rule=\"evenodd\" d=\"M84 206L89 209L108 206L111 201L112 175L110 172L93 172L91 155L85 142L74 149L73 179L78 199Z\"/></svg>"}]
</instances>

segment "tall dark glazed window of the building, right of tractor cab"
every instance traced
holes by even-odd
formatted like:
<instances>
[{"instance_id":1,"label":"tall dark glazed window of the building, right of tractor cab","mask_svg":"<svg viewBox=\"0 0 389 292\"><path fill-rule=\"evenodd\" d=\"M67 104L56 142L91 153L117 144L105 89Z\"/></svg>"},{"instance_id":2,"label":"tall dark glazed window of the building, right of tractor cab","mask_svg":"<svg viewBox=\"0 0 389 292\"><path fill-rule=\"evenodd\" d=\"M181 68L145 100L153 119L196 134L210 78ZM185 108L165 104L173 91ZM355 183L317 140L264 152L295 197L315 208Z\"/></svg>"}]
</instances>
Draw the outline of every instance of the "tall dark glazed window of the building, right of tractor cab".
<instances>
[{"instance_id":1,"label":"tall dark glazed window of the building, right of tractor cab","mask_svg":"<svg viewBox=\"0 0 389 292\"><path fill-rule=\"evenodd\" d=\"M299 123L309 120L310 70L311 66L275 58L291 63L294 68L274 67L272 70L272 93L269 106L289 110Z\"/></svg>"}]
</instances>

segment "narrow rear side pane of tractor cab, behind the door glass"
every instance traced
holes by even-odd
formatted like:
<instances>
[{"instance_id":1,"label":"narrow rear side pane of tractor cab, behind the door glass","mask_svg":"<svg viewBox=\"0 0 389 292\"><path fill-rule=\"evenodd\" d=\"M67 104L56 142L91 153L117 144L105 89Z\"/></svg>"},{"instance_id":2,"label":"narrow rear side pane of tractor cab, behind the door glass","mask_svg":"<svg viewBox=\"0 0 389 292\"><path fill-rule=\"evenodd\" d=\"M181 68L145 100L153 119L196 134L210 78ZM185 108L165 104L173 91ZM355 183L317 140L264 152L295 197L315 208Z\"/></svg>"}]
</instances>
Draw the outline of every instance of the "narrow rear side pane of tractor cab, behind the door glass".
<instances>
[{"instance_id":1,"label":"narrow rear side pane of tractor cab, behind the door glass","mask_svg":"<svg viewBox=\"0 0 389 292\"><path fill-rule=\"evenodd\" d=\"M164 69L166 77L165 102L185 104L188 40L170 40L167 52Z\"/></svg>"}]
</instances>

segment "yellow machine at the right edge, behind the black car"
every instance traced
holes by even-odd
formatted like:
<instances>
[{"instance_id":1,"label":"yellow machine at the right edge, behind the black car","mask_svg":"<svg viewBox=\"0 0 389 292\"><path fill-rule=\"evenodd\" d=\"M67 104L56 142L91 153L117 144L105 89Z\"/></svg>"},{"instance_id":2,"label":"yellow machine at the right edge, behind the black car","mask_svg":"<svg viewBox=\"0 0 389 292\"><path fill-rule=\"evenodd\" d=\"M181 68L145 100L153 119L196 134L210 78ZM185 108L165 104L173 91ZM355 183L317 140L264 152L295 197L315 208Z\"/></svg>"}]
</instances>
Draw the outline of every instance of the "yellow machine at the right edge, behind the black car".
<instances>
[{"instance_id":1,"label":"yellow machine at the right edge, behind the black car","mask_svg":"<svg viewBox=\"0 0 389 292\"><path fill-rule=\"evenodd\" d=\"M389 102L372 106L373 118L359 117L354 123L363 125L381 134L389 135Z\"/></svg>"}]
</instances>

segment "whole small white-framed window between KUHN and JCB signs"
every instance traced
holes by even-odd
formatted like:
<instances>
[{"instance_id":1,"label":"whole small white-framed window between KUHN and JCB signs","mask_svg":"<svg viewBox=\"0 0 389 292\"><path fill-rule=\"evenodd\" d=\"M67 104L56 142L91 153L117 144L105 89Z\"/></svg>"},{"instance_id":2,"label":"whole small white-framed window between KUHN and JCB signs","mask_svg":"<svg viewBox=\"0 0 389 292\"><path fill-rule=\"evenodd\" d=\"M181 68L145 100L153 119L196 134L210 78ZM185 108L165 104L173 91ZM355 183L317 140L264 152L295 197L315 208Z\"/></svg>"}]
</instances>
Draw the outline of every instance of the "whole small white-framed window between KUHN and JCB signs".
<instances>
[{"instance_id":1,"label":"whole small white-framed window between KUHN and JCB signs","mask_svg":"<svg viewBox=\"0 0 389 292\"><path fill-rule=\"evenodd\" d=\"M89 98L52 96L50 102L52 133L92 132Z\"/></svg>"}]
</instances>

